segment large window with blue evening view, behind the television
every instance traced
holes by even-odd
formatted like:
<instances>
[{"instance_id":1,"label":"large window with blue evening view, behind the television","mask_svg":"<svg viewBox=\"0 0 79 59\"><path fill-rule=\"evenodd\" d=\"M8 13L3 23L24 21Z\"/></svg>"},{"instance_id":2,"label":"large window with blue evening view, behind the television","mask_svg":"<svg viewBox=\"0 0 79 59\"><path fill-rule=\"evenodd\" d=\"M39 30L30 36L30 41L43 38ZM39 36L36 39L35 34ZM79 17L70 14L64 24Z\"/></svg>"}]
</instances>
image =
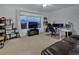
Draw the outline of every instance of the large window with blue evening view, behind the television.
<instances>
[{"instance_id":1,"label":"large window with blue evening view, behind the television","mask_svg":"<svg viewBox=\"0 0 79 59\"><path fill-rule=\"evenodd\" d=\"M39 16L20 16L19 18L22 29L41 28L41 17ZM28 22L28 26L27 26Z\"/></svg>"}]
</instances>

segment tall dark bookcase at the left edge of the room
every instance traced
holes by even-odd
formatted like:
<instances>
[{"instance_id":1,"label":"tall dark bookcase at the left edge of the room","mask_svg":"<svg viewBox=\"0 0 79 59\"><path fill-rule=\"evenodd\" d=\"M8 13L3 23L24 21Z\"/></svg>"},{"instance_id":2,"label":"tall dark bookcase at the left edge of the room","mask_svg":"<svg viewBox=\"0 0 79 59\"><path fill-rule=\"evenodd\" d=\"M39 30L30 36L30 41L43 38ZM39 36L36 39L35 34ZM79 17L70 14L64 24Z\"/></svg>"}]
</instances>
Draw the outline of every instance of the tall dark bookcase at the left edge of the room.
<instances>
[{"instance_id":1,"label":"tall dark bookcase at the left edge of the room","mask_svg":"<svg viewBox=\"0 0 79 59\"><path fill-rule=\"evenodd\" d=\"M0 17L0 48L4 47L4 41L5 41L5 22L6 18L5 17Z\"/></svg>"}]
</instances>

